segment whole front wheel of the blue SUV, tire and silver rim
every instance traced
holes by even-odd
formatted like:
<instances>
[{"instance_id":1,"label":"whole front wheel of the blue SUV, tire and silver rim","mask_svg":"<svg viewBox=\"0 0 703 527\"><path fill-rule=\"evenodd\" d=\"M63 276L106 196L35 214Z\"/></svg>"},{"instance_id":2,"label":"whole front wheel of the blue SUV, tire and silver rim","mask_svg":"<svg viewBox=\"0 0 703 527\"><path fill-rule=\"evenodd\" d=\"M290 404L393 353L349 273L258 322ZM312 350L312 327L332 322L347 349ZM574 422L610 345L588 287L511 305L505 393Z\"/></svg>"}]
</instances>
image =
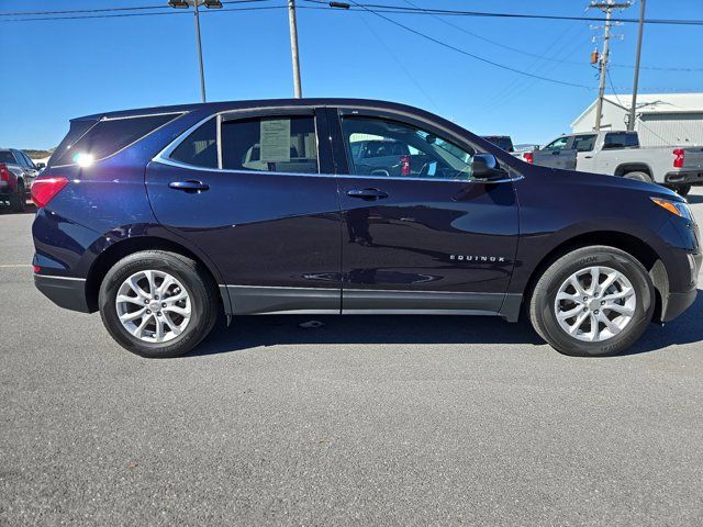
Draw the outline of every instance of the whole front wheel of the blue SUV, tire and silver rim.
<instances>
[{"instance_id":1,"label":"whole front wheel of the blue SUV, tire and silver rim","mask_svg":"<svg viewBox=\"0 0 703 527\"><path fill-rule=\"evenodd\" d=\"M590 272L579 274L592 268L599 268L595 272L599 273L600 284L605 284L606 280L614 276L623 277L624 280L618 278L605 290L593 291L592 280L590 284L581 282L588 280ZM582 287L581 293L573 285L563 289L574 274ZM627 285L632 288L634 295L607 300L617 295L625 296ZM568 298L557 303L557 293ZM603 295L607 301L602 300ZM576 302L570 298L574 298ZM585 298L589 301L582 302ZM529 298L529 319L537 334L563 355L609 356L627 349L641 336L651 321L655 299L651 280L637 259L614 247L583 247L558 258L539 277ZM603 307L602 302L606 302L606 305L612 305L613 309ZM623 305L620 305L621 303ZM557 310L561 313L577 314L560 323ZM632 311L632 315L626 319L624 313L628 311ZM580 317L585 319L579 325ZM604 318L609 318L610 326L602 322ZM593 322L598 330L593 329ZM577 329L570 334L565 325L571 328L577 325ZM589 329L588 333L583 330L585 328ZM593 338L595 335L598 338Z\"/></svg>"}]
</instances>

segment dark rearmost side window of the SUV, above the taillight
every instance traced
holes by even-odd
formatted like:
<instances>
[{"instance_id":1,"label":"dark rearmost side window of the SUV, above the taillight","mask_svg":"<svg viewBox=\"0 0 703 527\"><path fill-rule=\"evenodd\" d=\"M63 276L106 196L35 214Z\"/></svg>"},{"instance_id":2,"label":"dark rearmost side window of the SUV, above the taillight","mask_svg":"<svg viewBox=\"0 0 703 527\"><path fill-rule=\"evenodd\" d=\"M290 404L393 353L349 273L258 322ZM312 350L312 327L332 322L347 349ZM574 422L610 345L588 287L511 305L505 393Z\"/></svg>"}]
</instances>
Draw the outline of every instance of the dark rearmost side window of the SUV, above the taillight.
<instances>
[{"instance_id":1,"label":"dark rearmost side window of the SUV, above the taillight","mask_svg":"<svg viewBox=\"0 0 703 527\"><path fill-rule=\"evenodd\" d=\"M56 164L76 162L76 156L79 154L91 155L93 159L111 156L176 116L168 114L99 121L77 143L67 148Z\"/></svg>"}]
</instances>

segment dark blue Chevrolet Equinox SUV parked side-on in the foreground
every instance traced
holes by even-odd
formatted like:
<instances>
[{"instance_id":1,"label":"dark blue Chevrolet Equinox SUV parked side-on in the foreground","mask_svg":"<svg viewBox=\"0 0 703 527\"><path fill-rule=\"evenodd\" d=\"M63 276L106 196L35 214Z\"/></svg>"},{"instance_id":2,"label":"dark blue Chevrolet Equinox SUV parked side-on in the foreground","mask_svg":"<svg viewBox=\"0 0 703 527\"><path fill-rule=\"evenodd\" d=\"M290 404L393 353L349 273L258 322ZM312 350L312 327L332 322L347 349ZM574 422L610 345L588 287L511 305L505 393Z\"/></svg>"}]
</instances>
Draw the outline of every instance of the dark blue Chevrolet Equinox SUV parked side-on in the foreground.
<instances>
[{"instance_id":1,"label":"dark blue Chevrolet Equinox SUV parked side-on in the foreground","mask_svg":"<svg viewBox=\"0 0 703 527\"><path fill-rule=\"evenodd\" d=\"M76 119L32 193L36 287L147 357L188 352L222 311L524 311L561 352L614 354L691 305L701 264L671 191L370 100Z\"/></svg>"}]
</instances>

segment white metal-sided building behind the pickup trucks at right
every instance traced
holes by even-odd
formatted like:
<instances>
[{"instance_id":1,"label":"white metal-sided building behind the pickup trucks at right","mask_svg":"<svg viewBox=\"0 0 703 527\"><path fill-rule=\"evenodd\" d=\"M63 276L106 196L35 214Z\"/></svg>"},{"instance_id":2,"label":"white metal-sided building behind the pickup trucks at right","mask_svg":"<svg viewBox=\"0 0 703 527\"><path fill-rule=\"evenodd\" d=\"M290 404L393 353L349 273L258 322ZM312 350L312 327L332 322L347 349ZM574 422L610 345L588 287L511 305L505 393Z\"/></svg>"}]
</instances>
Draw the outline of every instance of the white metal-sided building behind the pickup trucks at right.
<instances>
[{"instance_id":1,"label":"white metal-sided building behind the pickup trucks at right","mask_svg":"<svg viewBox=\"0 0 703 527\"><path fill-rule=\"evenodd\" d=\"M610 94L603 101L604 130L626 130L631 94ZM574 133L595 126L593 101L572 123ZM703 93L638 93L635 130L641 146L703 146Z\"/></svg>"}]
</instances>

